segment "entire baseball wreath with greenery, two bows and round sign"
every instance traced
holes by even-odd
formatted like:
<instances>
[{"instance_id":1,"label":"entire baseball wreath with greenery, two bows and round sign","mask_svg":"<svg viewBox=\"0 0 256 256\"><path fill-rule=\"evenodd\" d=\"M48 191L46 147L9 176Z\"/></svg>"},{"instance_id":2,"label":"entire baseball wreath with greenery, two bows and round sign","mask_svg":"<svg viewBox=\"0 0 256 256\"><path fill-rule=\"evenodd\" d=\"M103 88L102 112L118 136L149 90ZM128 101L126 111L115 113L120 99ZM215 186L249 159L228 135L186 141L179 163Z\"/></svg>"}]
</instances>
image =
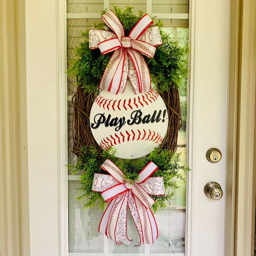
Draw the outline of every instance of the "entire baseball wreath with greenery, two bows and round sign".
<instances>
[{"instance_id":1,"label":"entire baseball wreath with greenery, two bows and round sign","mask_svg":"<svg viewBox=\"0 0 256 256\"><path fill-rule=\"evenodd\" d=\"M158 21L131 7L104 10L102 23L82 32L84 41L67 70L77 82L72 98L73 174L81 172L78 199L85 207L107 205L99 231L129 244L130 211L141 243L153 243L153 212L165 207L176 189L181 128L178 86L187 74L181 48ZM123 224L123 225L121 225Z\"/></svg>"}]
</instances>

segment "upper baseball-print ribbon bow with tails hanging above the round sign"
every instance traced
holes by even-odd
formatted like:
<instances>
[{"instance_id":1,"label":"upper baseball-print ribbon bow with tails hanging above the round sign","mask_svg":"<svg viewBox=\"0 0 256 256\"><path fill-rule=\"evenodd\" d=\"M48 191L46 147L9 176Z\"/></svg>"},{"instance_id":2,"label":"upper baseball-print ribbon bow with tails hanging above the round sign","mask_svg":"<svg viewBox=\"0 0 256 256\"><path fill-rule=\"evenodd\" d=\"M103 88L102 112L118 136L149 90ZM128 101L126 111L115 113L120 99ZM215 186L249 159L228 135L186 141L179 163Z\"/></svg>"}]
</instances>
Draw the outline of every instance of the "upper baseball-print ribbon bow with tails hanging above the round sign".
<instances>
[{"instance_id":1,"label":"upper baseball-print ribbon bow with tails hanging above the round sign","mask_svg":"<svg viewBox=\"0 0 256 256\"><path fill-rule=\"evenodd\" d=\"M146 93L151 88L149 69L141 54L152 58L155 46L162 44L157 26L143 15L125 37L125 30L115 13L110 10L102 15L104 23L114 32L89 30L89 49L99 48L102 54L114 51L103 73L99 88L111 93L123 93L127 76L135 93Z\"/></svg>"}]
</instances>

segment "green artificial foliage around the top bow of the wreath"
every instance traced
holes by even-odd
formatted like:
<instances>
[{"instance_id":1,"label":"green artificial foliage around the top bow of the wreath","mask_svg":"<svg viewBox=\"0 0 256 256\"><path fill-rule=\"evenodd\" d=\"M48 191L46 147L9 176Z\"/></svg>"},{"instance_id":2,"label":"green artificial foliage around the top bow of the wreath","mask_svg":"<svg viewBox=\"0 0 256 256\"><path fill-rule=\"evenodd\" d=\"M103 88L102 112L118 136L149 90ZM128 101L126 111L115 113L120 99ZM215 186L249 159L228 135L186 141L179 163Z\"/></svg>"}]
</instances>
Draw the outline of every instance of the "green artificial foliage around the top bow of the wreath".
<instances>
[{"instance_id":1,"label":"green artificial foliage around the top bow of the wreath","mask_svg":"<svg viewBox=\"0 0 256 256\"><path fill-rule=\"evenodd\" d=\"M144 15L141 11L134 14L132 9L132 7L128 6L125 10L122 10L117 6L113 6L113 11L125 29L125 36L128 36L130 30ZM101 15L106 11L104 10ZM163 23L161 21L157 21L154 25L159 27L163 44L156 48L152 59L146 56L144 56L144 59L149 67L151 81L161 93L168 91L170 86L178 87L186 76L187 67L184 55L187 54L188 48L182 48L177 42L173 42L170 35L163 32ZM111 31L105 23L94 24L94 26L95 29ZM102 55L99 49L90 50L88 31L81 32L81 37L85 40L79 43L79 46L75 49L77 59L71 63L67 74L77 78L77 83L84 89L85 93L97 94L99 82L112 53Z\"/></svg>"}]
</instances>

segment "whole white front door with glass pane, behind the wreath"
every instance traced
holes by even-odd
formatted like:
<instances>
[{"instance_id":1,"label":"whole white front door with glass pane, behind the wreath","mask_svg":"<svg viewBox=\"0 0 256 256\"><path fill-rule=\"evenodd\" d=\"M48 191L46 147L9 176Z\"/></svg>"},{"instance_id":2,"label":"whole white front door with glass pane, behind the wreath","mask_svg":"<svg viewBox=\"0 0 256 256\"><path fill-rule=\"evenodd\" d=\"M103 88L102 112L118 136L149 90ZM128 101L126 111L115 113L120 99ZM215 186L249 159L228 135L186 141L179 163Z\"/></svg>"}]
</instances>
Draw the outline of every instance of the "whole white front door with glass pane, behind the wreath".
<instances>
[{"instance_id":1,"label":"whole white front door with glass pane, behind the wreath","mask_svg":"<svg viewBox=\"0 0 256 256\"><path fill-rule=\"evenodd\" d=\"M72 49L67 49L65 59L65 18L67 45L72 48L80 40L80 29L86 30L100 21L99 12L109 3L120 7L130 4L135 11L157 15L174 39L185 42L187 37L191 48L187 90L183 87L180 91L187 125L180 133L178 150L183 151L183 161L187 160L192 171L186 184L179 184L176 198L155 215L160 236L150 246L115 246L99 234L97 226L102 213L81 209L82 204L74 199L78 177L67 177L64 166L74 161L71 153L68 159L65 155L65 142L69 152L71 148L70 133L65 141L65 101L69 96L70 119L70 96L74 93L72 81L68 82L68 95L63 86L65 63L74 58ZM223 0L68 0L66 15L63 0L25 0L32 256L224 256L229 5L229 1ZM206 152L212 147L222 153L218 163L206 159ZM204 194L204 186L210 181L221 185L221 200L211 200Z\"/></svg>"}]
</instances>

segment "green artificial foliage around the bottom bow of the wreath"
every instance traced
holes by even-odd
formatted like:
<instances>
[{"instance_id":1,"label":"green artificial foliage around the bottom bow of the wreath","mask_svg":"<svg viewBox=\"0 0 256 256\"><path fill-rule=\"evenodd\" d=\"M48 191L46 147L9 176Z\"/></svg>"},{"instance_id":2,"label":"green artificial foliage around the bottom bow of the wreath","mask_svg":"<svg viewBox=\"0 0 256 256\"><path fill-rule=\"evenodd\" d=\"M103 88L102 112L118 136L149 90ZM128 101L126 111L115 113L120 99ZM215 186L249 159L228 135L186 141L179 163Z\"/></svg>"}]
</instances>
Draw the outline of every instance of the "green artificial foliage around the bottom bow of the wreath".
<instances>
[{"instance_id":1,"label":"green artificial foliage around the bottom bow of the wreath","mask_svg":"<svg viewBox=\"0 0 256 256\"><path fill-rule=\"evenodd\" d=\"M151 177L162 176L166 191L169 189L177 189L174 178L185 181L185 176L179 173L180 170L189 170L188 167L179 165L180 153L160 150L158 147L151 151L147 157L140 158L136 161L116 158L115 152L116 150L113 147L101 152L94 146L86 145L81 148L80 157L75 165L67 165L68 169L70 169L73 174L82 172L80 176L80 193L77 199L88 199L84 204L85 207L93 207L95 203L98 203L100 208L104 208L105 202L101 194L91 191L91 187L93 185L94 173L108 174L100 168L106 159L110 159L114 162L122 170L126 180L128 181L134 181L138 177L139 171L141 171L149 161L153 161L159 169L155 171ZM173 192L170 192L166 195L152 195L152 198L155 200L155 203L152 206L153 212L159 208L165 207L165 201L170 200L173 194Z\"/></svg>"}]
</instances>

